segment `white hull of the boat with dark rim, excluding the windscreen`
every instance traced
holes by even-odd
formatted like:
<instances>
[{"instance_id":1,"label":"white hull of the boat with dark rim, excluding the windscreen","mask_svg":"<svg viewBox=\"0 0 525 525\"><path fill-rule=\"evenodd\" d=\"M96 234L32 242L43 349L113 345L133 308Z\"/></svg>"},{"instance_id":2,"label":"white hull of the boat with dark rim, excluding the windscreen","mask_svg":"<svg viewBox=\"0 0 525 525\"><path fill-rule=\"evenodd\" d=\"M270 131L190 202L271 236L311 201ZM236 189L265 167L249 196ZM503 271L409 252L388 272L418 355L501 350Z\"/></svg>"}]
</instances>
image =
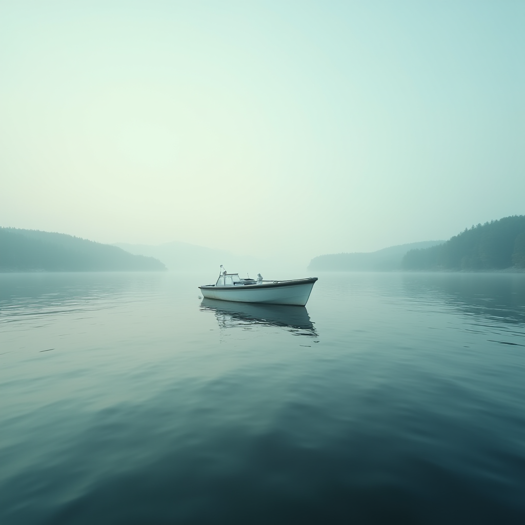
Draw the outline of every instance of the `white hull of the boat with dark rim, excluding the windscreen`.
<instances>
[{"instance_id":1,"label":"white hull of the boat with dark rim, excluding the windscreen","mask_svg":"<svg viewBox=\"0 0 525 525\"><path fill-rule=\"evenodd\" d=\"M260 285L199 286L207 299L255 302L265 304L295 304L305 306L317 277L294 281L275 281Z\"/></svg>"}]
</instances>

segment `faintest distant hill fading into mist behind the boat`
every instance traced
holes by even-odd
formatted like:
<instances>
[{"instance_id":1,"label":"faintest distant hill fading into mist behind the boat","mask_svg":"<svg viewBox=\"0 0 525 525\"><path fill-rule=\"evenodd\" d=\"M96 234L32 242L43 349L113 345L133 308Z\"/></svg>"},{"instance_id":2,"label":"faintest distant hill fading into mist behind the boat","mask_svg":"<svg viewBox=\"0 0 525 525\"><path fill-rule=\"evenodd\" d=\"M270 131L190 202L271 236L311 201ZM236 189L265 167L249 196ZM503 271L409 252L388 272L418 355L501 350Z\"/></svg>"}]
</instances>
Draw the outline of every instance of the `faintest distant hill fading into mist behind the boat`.
<instances>
[{"instance_id":1,"label":"faintest distant hill fading into mist behind the boat","mask_svg":"<svg viewBox=\"0 0 525 525\"><path fill-rule=\"evenodd\" d=\"M158 246L125 243L114 243L113 246L118 246L132 254L160 259L169 270L202 270L215 275L220 265L224 265L229 271L245 271L246 269L260 271L266 265L266 261L256 257L234 255L226 250L178 241Z\"/></svg>"}]
</instances>

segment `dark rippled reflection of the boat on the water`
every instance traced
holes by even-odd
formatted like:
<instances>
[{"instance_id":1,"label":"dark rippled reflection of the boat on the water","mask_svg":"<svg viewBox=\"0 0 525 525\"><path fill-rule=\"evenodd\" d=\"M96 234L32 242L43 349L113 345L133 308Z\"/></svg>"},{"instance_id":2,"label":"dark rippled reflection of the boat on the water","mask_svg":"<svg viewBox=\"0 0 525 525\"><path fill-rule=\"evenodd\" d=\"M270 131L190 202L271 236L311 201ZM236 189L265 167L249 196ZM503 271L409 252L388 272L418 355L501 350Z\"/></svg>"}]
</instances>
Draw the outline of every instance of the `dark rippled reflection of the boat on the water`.
<instances>
[{"instance_id":1,"label":"dark rippled reflection of the boat on the water","mask_svg":"<svg viewBox=\"0 0 525 525\"><path fill-rule=\"evenodd\" d=\"M203 311L213 311L221 328L249 328L249 325L278 327L295 335L318 337L304 306L255 304L203 299Z\"/></svg>"}]
</instances>

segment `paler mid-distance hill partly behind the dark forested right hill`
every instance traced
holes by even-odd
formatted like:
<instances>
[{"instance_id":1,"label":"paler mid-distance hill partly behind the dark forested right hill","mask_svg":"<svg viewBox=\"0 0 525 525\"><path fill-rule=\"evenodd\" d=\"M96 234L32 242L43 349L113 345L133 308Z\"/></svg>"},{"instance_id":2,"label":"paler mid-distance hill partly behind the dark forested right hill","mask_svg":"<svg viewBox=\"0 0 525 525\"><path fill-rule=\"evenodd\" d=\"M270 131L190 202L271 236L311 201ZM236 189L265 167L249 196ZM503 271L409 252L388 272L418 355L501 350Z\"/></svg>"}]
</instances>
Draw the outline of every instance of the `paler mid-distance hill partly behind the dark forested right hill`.
<instances>
[{"instance_id":1,"label":"paler mid-distance hill partly behind the dark forested right hill","mask_svg":"<svg viewBox=\"0 0 525 525\"><path fill-rule=\"evenodd\" d=\"M368 253L320 255L310 261L309 270L319 271L394 271L401 270L401 261L409 250L428 248L444 240L401 244Z\"/></svg>"}]
</instances>

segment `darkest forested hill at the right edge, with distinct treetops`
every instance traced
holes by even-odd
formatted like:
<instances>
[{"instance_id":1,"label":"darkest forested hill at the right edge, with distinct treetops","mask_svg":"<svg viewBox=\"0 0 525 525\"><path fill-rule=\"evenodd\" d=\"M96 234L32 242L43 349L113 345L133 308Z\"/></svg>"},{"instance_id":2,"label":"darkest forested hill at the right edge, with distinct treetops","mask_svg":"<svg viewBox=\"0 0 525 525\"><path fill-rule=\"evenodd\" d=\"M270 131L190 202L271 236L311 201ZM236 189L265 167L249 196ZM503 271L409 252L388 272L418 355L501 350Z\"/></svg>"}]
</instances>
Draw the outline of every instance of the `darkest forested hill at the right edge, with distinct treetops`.
<instances>
[{"instance_id":1,"label":"darkest forested hill at the right edge, with distinct treetops","mask_svg":"<svg viewBox=\"0 0 525 525\"><path fill-rule=\"evenodd\" d=\"M525 268L525 215L478 224L426 249L408 251L406 270L502 270Z\"/></svg>"}]
</instances>

